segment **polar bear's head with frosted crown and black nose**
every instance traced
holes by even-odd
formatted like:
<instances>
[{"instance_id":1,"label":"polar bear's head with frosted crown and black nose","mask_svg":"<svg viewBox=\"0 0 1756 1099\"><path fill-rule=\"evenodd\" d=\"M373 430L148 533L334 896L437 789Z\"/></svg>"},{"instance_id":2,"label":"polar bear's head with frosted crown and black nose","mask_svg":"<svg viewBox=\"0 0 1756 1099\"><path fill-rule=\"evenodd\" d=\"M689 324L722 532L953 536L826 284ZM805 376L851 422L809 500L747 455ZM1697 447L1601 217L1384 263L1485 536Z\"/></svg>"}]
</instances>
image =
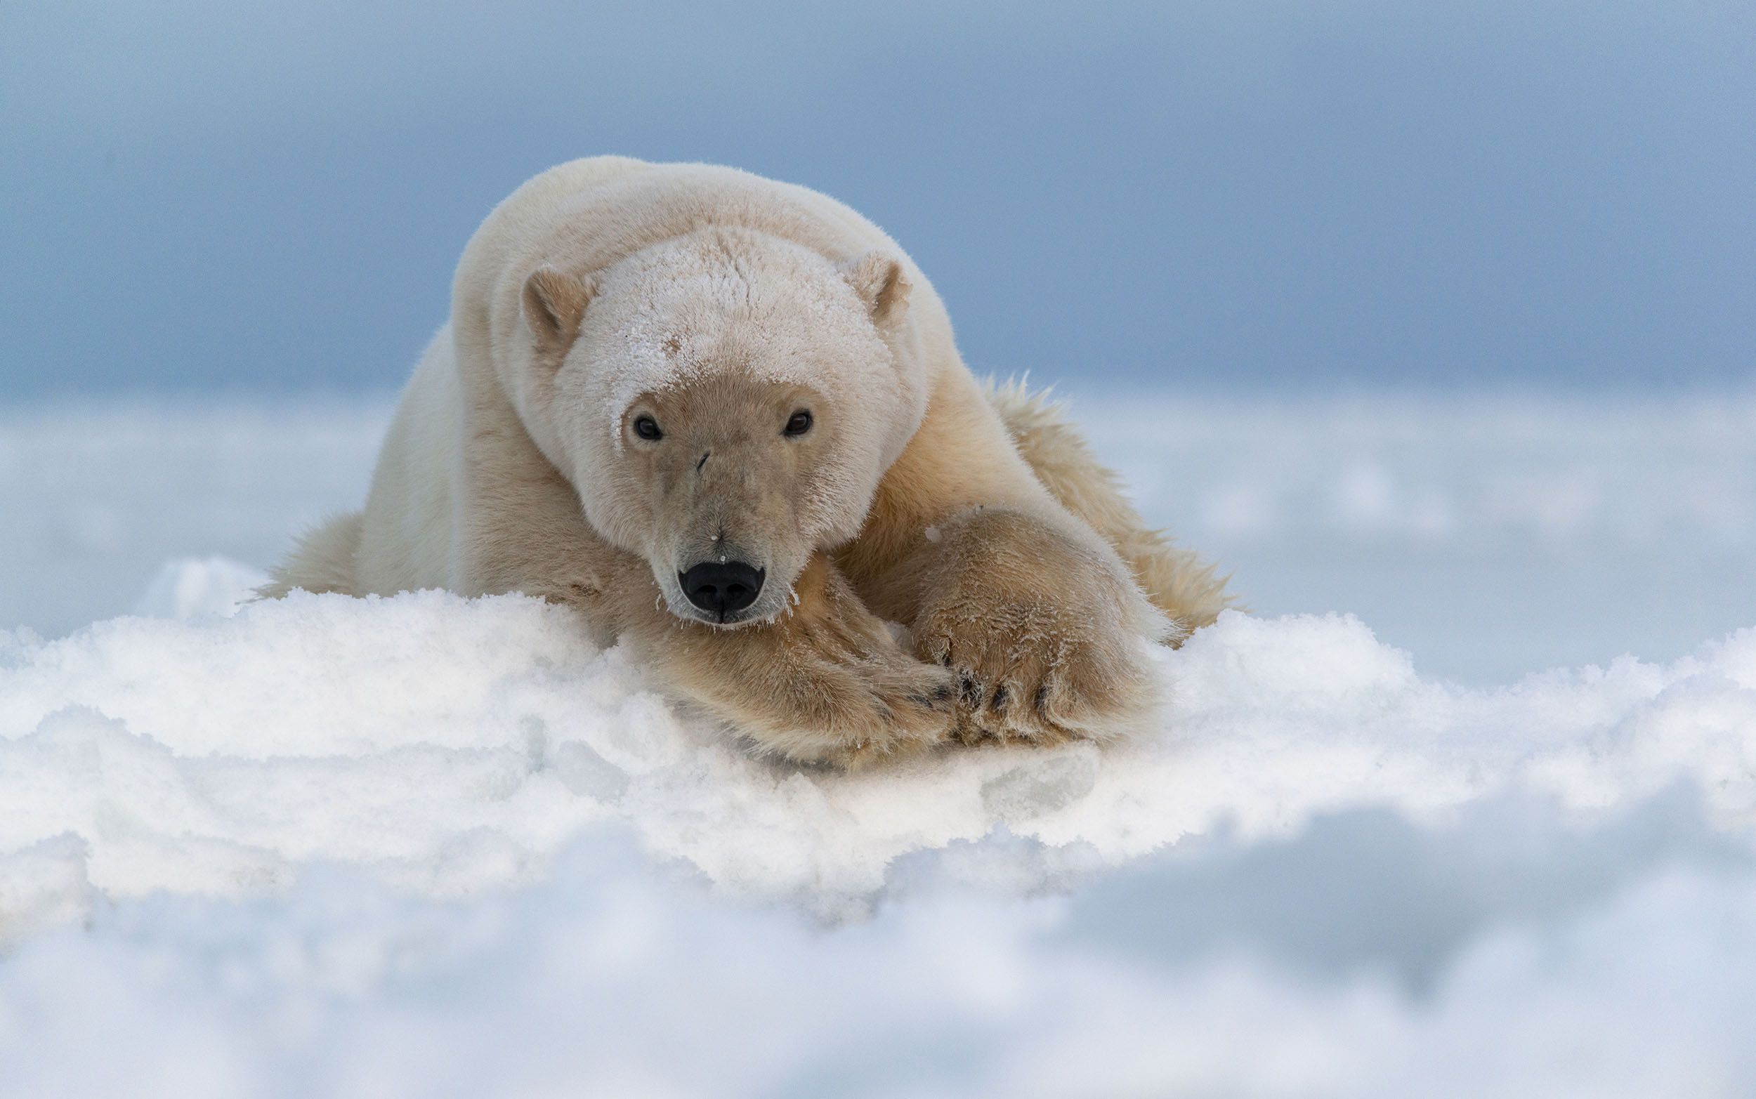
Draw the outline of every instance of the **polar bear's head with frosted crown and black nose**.
<instances>
[{"instance_id":1,"label":"polar bear's head with frosted crown and black nose","mask_svg":"<svg viewBox=\"0 0 1756 1099\"><path fill-rule=\"evenodd\" d=\"M813 551L859 534L920 427L908 290L885 251L836 263L725 226L595 272L543 265L520 304L522 414L671 613L764 621Z\"/></svg>"}]
</instances>

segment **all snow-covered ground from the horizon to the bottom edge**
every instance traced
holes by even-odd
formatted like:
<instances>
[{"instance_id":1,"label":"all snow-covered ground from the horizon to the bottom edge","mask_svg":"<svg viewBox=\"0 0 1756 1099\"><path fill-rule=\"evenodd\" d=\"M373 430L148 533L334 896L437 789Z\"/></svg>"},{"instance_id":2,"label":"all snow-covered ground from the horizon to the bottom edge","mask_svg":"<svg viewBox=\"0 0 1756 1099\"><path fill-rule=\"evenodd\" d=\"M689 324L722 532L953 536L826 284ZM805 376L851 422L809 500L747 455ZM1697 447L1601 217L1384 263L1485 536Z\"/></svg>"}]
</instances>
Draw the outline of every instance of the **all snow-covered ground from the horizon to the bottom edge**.
<instances>
[{"instance_id":1,"label":"all snow-covered ground from the horizon to the bottom edge","mask_svg":"<svg viewBox=\"0 0 1756 1099\"><path fill-rule=\"evenodd\" d=\"M0 1095L1756 1094L1756 400L1080 411L1263 614L852 778L530 600L225 616L383 406L0 416Z\"/></svg>"}]
</instances>

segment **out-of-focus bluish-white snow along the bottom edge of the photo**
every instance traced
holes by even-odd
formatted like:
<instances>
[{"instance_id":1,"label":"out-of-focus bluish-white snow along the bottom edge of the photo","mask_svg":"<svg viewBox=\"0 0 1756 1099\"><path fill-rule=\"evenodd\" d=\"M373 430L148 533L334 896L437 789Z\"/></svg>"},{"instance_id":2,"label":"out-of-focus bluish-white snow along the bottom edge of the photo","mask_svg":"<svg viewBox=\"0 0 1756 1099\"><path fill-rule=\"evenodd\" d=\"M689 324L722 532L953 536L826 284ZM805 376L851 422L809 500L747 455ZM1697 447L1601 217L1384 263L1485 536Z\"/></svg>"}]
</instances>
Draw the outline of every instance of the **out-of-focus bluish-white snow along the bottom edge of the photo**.
<instances>
[{"instance_id":1,"label":"out-of-focus bluish-white snow along the bottom edge of the photo","mask_svg":"<svg viewBox=\"0 0 1756 1099\"><path fill-rule=\"evenodd\" d=\"M946 855L1022 878L1031 846ZM1756 1078L1756 869L1686 801L1582 830L1517 801L1343 813L1071 901L1011 885L824 934L604 837L462 902L334 869L277 901L135 901L0 964L0 1092L1733 1099Z\"/></svg>"}]
</instances>

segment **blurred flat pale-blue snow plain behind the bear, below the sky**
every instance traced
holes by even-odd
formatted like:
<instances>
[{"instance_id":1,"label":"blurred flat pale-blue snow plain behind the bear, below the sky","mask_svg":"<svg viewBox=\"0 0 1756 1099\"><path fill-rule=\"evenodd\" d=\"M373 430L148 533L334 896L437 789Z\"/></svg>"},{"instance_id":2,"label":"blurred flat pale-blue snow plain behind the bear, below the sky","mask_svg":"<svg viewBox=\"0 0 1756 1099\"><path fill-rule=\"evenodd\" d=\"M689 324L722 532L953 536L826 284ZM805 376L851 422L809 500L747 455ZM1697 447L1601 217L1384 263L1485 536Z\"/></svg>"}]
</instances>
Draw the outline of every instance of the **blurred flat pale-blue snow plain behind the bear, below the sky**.
<instances>
[{"instance_id":1,"label":"blurred flat pale-blue snow plain behind the bear, below the sky","mask_svg":"<svg viewBox=\"0 0 1756 1099\"><path fill-rule=\"evenodd\" d=\"M1073 397L1141 516L1252 613L1349 611L1421 674L1668 662L1751 625L1756 393ZM227 583L267 569L360 506L390 411L0 406L0 643L165 606L191 558Z\"/></svg>"}]
</instances>

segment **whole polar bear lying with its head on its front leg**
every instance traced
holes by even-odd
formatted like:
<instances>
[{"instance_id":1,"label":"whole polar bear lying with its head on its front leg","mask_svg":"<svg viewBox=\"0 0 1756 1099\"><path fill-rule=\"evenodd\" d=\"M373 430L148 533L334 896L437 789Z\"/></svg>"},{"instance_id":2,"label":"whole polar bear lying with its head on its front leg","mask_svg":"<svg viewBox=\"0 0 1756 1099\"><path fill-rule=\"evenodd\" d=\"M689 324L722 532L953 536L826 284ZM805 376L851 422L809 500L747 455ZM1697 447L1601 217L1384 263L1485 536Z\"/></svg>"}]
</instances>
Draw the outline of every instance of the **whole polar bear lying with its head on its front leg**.
<instances>
[{"instance_id":1,"label":"whole polar bear lying with its head on its front leg","mask_svg":"<svg viewBox=\"0 0 1756 1099\"><path fill-rule=\"evenodd\" d=\"M1126 732L1145 646L1227 602L1057 409L969 374L874 225L616 156L476 230L365 509L263 593L293 588L565 602L760 750L838 764Z\"/></svg>"}]
</instances>

